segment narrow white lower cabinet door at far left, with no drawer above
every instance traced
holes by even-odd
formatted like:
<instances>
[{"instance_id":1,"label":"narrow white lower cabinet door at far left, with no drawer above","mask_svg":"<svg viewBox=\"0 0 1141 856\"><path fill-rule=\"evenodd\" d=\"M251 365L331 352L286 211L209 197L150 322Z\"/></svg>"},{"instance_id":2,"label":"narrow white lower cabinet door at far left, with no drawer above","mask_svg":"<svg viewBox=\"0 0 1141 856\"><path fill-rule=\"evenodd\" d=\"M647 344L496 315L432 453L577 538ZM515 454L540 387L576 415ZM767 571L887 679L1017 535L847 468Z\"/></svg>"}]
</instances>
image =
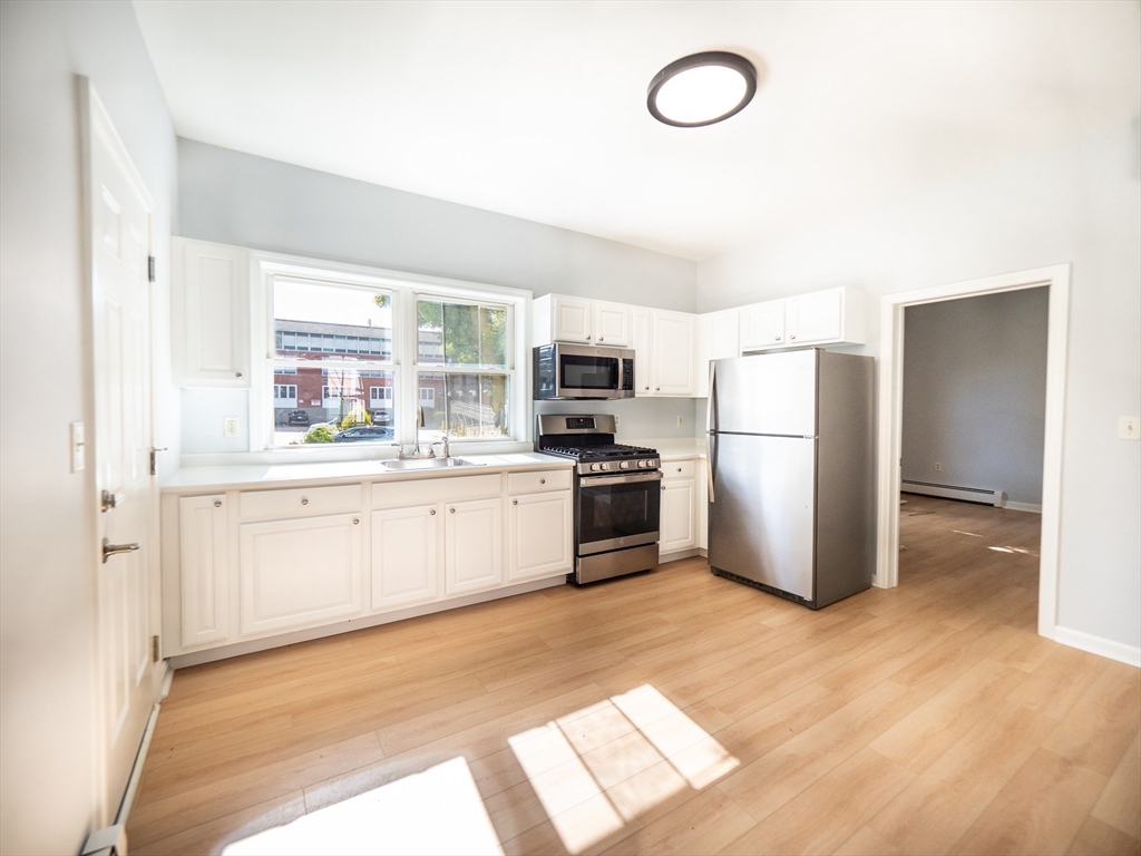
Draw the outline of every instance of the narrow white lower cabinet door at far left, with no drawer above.
<instances>
[{"instance_id":1,"label":"narrow white lower cabinet door at far left, with no drawer above","mask_svg":"<svg viewBox=\"0 0 1141 856\"><path fill-rule=\"evenodd\" d=\"M229 550L226 498L186 496L178 501L179 607L187 648L229 637Z\"/></svg>"}]
</instances>

